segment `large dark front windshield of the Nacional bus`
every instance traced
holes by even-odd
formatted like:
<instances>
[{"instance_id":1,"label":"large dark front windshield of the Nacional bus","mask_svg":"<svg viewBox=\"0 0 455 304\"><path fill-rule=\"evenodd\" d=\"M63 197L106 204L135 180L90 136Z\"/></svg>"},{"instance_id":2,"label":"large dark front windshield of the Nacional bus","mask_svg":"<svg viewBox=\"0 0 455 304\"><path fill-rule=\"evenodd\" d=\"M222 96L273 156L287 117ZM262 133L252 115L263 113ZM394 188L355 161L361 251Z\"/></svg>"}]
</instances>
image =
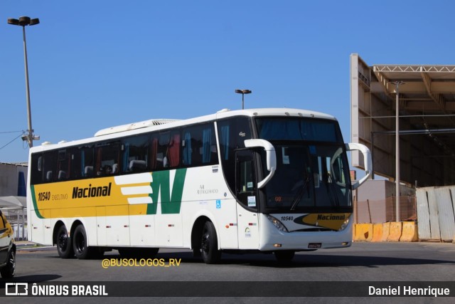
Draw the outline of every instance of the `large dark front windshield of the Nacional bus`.
<instances>
[{"instance_id":1,"label":"large dark front windshield of the Nacional bus","mask_svg":"<svg viewBox=\"0 0 455 304\"><path fill-rule=\"evenodd\" d=\"M352 208L348 160L336 120L258 117L256 127L259 138L271 142L277 154L277 169L264 187L266 209Z\"/></svg>"}]
</instances>

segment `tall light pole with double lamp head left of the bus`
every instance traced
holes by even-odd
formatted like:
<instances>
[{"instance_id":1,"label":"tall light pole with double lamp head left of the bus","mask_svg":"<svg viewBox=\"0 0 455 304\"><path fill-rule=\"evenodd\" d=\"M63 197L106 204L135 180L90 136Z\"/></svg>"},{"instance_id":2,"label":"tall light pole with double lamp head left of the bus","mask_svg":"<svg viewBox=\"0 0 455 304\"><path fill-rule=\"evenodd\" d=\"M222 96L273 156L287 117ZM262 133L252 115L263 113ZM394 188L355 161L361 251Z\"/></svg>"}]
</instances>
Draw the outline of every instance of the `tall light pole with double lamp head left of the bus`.
<instances>
[{"instance_id":1,"label":"tall light pole with double lamp head left of the bus","mask_svg":"<svg viewBox=\"0 0 455 304\"><path fill-rule=\"evenodd\" d=\"M27 98L27 119L28 119L28 134L22 137L22 140L28 142L28 147L33 147L33 140L39 140L39 136L33 135L31 127L31 108L30 108L30 87L28 85L28 61L27 61L27 43L26 43L26 26L34 26L40 23L40 19L30 19L30 17L22 16L19 19L9 18L8 23L14 26L22 26L23 34L23 60L26 66L26 98Z\"/></svg>"}]
</instances>

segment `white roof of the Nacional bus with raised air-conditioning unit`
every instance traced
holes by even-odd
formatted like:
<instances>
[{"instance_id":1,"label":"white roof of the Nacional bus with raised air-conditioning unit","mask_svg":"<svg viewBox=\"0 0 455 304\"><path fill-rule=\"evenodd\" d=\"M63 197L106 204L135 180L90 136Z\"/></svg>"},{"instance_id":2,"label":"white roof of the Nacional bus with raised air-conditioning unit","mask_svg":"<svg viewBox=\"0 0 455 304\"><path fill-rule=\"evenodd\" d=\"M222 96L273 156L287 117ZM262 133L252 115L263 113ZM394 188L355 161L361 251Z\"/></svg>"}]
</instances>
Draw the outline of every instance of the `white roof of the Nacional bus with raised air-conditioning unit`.
<instances>
[{"instance_id":1,"label":"white roof of the Nacional bus with raised air-conditioning unit","mask_svg":"<svg viewBox=\"0 0 455 304\"><path fill-rule=\"evenodd\" d=\"M141 132L149 132L154 130L168 129L172 127L181 127L184 125L192 125L198 122L206 122L210 120L218 120L228 117L235 116L250 116L250 117L261 117L261 116L283 116L283 117L311 117L311 118L322 118L328 120L336 120L332 115L324 114L321 112L315 112L310 110L301 109L290 109L290 108L257 108L257 109L245 109L245 110L229 110L223 109L215 114L205 115L200 117L194 117L186 120L175 120L175 119L154 119L144 120L141 122L134 122L127 125L119 125L116 127L107 127L99 130L95 133L97 140L107 140L116 137L123 137L127 135L133 135L137 133L137 130ZM95 137L89 137L82 140L74 141L62 141L58 142L58 145L51 144L49 142L43 142L41 146L35 146L31 148L31 152L38 152L48 149L55 149L58 147L68 147L73 145L83 145L96 141Z\"/></svg>"}]
</instances>

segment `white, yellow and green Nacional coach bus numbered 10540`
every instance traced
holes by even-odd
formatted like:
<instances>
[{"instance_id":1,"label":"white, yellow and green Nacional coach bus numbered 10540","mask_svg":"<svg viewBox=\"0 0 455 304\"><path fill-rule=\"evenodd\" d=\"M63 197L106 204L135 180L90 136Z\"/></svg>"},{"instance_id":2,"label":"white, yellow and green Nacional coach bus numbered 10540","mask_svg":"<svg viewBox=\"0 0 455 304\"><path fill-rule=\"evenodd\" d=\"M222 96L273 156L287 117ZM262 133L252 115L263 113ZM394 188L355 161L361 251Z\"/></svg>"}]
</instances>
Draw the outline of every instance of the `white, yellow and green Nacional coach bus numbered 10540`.
<instances>
[{"instance_id":1,"label":"white, yellow and green Nacional coach bus numbered 10540","mask_svg":"<svg viewBox=\"0 0 455 304\"><path fill-rule=\"evenodd\" d=\"M367 171L355 184L349 150L363 152ZM205 263L223 252L290 261L350 246L352 191L370 162L367 147L343 143L334 117L307 110L110 127L30 149L28 239L61 258L191 248Z\"/></svg>"}]
</instances>

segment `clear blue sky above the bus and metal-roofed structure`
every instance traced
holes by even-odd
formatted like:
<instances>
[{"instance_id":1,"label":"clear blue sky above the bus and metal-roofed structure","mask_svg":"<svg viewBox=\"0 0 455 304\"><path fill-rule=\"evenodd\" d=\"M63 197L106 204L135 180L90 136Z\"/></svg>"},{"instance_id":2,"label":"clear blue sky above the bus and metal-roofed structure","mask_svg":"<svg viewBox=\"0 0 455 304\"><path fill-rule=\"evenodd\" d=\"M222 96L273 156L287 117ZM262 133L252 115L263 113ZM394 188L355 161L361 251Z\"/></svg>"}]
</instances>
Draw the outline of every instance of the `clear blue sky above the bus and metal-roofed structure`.
<instances>
[{"instance_id":1,"label":"clear blue sky above the bus and metal-roofed structure","mask_svg":"<svg viewBox=\"0 0 455 304\"><path fill-rule=\"evenodd\" d=\"M22 31L8 18L41 21L26 27L35 145L238 109L236 88L253 91L247 108L334 115L348 142L350 53L369 65L455 64L454 11L453 1L2 0L0 162L28 159Z\"/></svg>"}]
</instances>

